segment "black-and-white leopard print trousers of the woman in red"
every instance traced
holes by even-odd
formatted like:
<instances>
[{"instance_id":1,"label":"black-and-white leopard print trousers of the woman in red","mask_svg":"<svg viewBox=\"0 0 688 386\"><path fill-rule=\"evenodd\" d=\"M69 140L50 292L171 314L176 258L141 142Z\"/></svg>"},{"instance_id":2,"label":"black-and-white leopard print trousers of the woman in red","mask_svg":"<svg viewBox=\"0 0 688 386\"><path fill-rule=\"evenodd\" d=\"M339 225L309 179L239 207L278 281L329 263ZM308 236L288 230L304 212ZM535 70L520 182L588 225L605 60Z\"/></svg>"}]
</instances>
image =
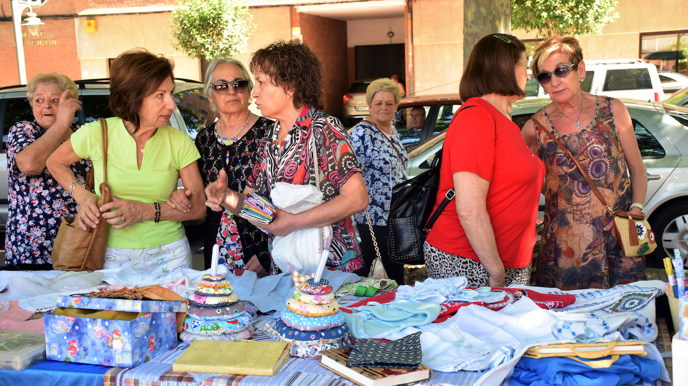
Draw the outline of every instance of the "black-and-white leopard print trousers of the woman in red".
<instances>
[{"instance_id":1,"label":"black-and-white leopard print trousers of the woman in red","mask_svg":"<svg viewBox=\"0 0 688 386\"><path fill-rule=\"evenodd\" d=\"M464 276L468 279L467 286L469 287L488 286L490 275L482 264L473 259L442 252L428 242L423 244L423 255L425 256L425 269L428 277L444 279ZM524 268L506 268L504 282L505 286L510 284L525 284L527 286L530 283L530 265Z\"/></svg>"}]
</instances>

